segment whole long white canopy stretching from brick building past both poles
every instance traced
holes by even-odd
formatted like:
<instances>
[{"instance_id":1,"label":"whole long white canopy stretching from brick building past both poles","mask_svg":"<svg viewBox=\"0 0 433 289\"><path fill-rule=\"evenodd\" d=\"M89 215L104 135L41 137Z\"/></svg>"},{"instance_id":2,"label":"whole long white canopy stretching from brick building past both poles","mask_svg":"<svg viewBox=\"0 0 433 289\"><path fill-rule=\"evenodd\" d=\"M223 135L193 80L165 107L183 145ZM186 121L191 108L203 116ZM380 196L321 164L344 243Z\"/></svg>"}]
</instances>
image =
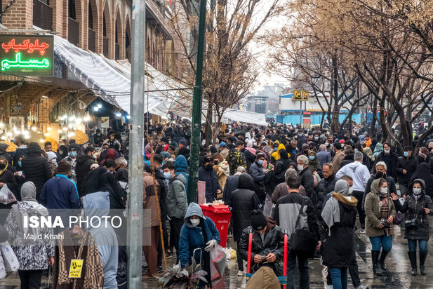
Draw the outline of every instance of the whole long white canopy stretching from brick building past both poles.
<instances>
[{"instance_id":1,"label":"whole long white canopy stretching from brick building past both poles","mask_svg":"<svg viewBox=\"0 0 433 289\"><path fill-rule=\"evenodd\" d=\"M130 112L131 109L131 65L127 60L116 62L101 55L84 51L59 36L54 36L54 52L85 86L103 100ZM190 118L192 111L192 89L146 64L147 76L144 91L145 112L166 116L173 112L183 118ZM157 91L159 90L159 91ZM162 90L162 91L161 91ZM187 93L188 97L185 97ZM149 106L147 106L147 99ZM204 107L206 107L204 103ZM205 112L205 111L204 111ZM206 114L204 113L204 117ZM267 125L265 114L255 114L236 109L225 112L224 118L232 121Z\"/></svg>"}]
</instances>

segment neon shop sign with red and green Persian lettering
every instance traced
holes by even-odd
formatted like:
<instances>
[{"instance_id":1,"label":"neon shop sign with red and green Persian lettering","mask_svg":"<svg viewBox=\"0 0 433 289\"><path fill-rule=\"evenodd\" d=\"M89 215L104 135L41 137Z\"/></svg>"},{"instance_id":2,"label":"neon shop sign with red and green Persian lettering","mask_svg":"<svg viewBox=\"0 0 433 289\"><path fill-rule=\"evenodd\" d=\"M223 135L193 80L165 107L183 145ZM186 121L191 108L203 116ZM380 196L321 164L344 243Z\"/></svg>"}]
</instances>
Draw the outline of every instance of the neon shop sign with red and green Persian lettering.
<instances>
[{"instance_id":1,"label":"neon shop sign with red and green Persian lettering","mask_svg":"<svg viewBox=\"0 0 433 289\"><path fill-rule=\"evenodd\" d=\"M0 35L0 73L52 76L53 43L53 36Z\"/></svg>"}]
</instances>

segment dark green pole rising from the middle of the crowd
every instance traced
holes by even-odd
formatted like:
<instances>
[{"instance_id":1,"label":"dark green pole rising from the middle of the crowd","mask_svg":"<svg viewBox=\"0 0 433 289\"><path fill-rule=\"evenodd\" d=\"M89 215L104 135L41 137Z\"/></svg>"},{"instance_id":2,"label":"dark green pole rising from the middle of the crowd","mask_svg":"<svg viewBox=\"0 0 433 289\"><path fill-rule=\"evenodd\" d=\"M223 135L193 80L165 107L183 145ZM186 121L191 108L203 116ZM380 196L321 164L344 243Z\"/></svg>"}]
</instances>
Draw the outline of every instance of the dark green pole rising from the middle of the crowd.
<instances>
[{"instance_id":1,"label":"dark green pole rising from the middle of the crowd","mask_svg":"<svg viewBox=\"0 0 433 289\"><path fill-rule=\"evenodd\" d=\"M199 202L197 191L199 182L199 154L200 154L200 130L201 130L201 98L203 97L203 55L204 55L204 32L206 25L206 0L200 1L199 18L199 43L197 46L196 63L196 85L194 86L194 97L192 100L192 128L191 128L191 159L189 159L189 184L188 203Z\"/></svg>"}]
</instances>

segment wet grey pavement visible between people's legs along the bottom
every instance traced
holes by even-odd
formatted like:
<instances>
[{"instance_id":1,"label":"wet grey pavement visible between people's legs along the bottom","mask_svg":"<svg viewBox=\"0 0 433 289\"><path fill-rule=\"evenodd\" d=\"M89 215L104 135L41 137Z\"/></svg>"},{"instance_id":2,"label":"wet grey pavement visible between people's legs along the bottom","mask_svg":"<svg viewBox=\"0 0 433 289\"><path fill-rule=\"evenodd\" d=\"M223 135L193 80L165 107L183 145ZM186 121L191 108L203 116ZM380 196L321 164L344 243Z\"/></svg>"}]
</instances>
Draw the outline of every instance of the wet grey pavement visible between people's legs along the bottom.
<instances>
[{"instance_id":1,"label":"wet grey pavement visible between people's legs along the bottom","mask_svg":"<svg viewBox=\"0 0 433 289\"><path fill-rule=\"evenodd\" d=\"M433 217L429 217L430 224L433 224ZM432 227L432 225L430 226ZM390 272L385 276L373 276L371 265L371 244L365 235L359 234L357 231L354 237L355 248L357 251L357 261L359 266L359 277L361 278L362 285L368 285L370 288L394 288L394 289L417 289L417 288L433 288L433 248L432 242L429 242L429 255L425 262L427 271L426 276L419 274L419 260L418 263L418 276L411 276L411 265L408 260L408 245L404 239L404 229L398 226L394 227L393 246L391 253L389 253L386 264ZM430 229L430 234L433 230ZM234 247L234 241L227 242L227 246ZM175 258L167 259L168 267L173 266ZM323 267L320 260L309 260L309 274L310 274L310 288L324 288L326 284L326 276L322 275ZM245 276L237 276L237 262L236 259L229 260L225 270L225 277L213 288L245 288ZM349 278L349 288L353 288L352 281ZM0 280L0 289L18 289L20 288L20 278L17 273L11 273L6 278ZM46 287L46 278L43 278L41 288ZM156 288L158 281L143 281L142 288Z\"/></svg>"}]
</instances>

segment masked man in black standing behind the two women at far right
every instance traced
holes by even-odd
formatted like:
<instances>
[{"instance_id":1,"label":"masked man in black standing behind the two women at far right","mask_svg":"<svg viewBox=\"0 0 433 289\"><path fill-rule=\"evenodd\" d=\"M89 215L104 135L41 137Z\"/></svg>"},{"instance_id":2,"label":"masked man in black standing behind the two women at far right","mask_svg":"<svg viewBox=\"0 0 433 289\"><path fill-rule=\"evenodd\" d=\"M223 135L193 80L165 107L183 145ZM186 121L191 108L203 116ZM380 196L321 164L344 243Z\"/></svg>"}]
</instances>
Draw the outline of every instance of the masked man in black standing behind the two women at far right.
<instances>
[{"instance_id":1,"label":"masked man in black standing behind the two women at far right","mask_svg":"<svg viewBox=\"0 0 433 289\"><path fill-rule=\"evenodd\" d=\"M400 196L406 194L409 181L417 167L418 160L412 156L412 147L404 147L404 156L399 157L396 167L397 177L399 177Z\"/></svg>"}]
</instances>

